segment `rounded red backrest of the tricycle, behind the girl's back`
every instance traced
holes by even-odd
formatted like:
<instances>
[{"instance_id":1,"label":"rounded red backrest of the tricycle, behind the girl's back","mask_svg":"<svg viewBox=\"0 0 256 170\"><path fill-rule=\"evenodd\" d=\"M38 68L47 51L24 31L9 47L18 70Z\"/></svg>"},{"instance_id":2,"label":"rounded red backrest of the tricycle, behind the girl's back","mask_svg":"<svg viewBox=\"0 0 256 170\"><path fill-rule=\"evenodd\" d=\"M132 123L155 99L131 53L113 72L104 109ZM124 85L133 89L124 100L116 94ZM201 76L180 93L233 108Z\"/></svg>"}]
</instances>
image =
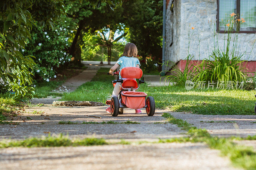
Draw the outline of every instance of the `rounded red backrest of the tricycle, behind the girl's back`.
<instances>
[{"instance_id":1,"label":"rounded red backrest of the tricycle, behind the girl's back","mask_svg":"<svg viewBox=\"0 0 256 170\"><path fill-rule=\"evenodd\" d=\"M141 78L142 74L142 70L137 67L124 67L120 72L122 78Z\"/></svg>"}]
</instances>

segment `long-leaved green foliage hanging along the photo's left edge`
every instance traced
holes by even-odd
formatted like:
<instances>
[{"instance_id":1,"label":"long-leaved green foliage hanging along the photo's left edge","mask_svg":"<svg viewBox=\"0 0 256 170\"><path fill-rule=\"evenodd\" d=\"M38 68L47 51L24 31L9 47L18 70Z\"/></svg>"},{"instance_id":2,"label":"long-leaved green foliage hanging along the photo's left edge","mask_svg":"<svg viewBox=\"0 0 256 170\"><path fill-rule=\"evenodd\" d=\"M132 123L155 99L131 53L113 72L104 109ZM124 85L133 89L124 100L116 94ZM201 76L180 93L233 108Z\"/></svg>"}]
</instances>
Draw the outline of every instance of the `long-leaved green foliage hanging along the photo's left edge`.
<instances>
[{"instance_id":1,"label":"long-leaved green foliage hanging along the photo's left edge","mask_svg":"<svg viewBox=\"0 0 256 170\"><path fill-rule=\"evenodd\" d=\"M15 0L0 3L0 78L15 98L35 96L32 85L33 56L23 56L30 29L35 20L53 28L54 21L64 15L62 0ZM41 13L41 14L40 14ZM23 49L24 50L24 49ZM8 82L8 83L7 83ZM2 89L2 84L1 87Z\"/></svg>"}]
</instances>

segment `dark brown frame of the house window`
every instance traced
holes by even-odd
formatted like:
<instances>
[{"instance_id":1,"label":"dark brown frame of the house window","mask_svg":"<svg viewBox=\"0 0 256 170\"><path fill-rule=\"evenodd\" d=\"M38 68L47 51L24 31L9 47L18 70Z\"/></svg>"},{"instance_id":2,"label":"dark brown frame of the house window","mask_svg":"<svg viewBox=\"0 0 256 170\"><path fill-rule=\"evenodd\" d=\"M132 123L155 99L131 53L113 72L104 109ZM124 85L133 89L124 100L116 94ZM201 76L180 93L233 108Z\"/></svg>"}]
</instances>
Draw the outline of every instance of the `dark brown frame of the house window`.
<instances>
[{"instance_id":1,"label":"dark brown frame of the house window","mask_svg":"<svg viewBox=\"0 0 256 170\"><path fill-rule=\"evenodd\" d=\"M219 21L219 12L220 12L220 0L217 0L217 32L218 33L227 33L227 31L223 31L223 30L219 30L219 25L220 25L220 21ZM240 13L240 0L236 0L236 15ZM240 19L240 16L237 15L238 18L237 19ZM240 31L240 24L237 23L236 21L236 27L237 27L237 30L239 31L230 31L230 33L256 33L256 31Z\"/></svg>"}]
</instances>

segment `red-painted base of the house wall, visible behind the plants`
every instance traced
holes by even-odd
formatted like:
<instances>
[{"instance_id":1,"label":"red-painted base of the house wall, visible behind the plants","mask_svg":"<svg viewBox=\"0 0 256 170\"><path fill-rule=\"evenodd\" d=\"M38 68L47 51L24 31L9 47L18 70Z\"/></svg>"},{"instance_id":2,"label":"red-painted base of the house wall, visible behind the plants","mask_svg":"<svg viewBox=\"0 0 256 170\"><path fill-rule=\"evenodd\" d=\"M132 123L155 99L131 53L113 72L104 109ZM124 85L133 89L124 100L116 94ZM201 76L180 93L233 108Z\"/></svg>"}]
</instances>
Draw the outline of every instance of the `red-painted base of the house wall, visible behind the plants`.
<instances>
[{"instance_id":1,"label":"red-painted base of the house wall, visible behind the plants","mask_svg":"<svg viewBox=\"0 0 256 170\"><path fill-rule=\"evenodd\" d=\"M186 67L186 63L187 63L187 60L180 60L178 63L177 63L177 67L183 71ZM190 67L192 64L193 65L197 65L197 64L200 64L202 63L202 60L191 60L190 63L188 64L188 67ZM252 72L252 76L254 76L255 72L256 72L256 61L245 61L243 63L243 66L245 66L245 68L247 68L247 72Z\"/></svg>"}]
</instances>

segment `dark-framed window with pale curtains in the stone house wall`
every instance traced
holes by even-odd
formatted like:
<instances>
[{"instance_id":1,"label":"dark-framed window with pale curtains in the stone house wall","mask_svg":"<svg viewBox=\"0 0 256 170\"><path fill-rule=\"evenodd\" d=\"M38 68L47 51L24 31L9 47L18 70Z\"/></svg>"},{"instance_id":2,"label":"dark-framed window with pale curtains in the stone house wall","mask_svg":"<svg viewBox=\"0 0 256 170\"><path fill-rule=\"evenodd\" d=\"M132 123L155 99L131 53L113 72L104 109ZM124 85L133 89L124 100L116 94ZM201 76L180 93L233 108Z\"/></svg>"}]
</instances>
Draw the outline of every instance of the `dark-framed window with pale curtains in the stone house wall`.
<instances>
[{"instance_id":1,"label":"dark-framed window with pale curtains in the stone house wall","mask_svg":"<svg viewBox=\"0 0 256 170\"><path fill-rule=\"evenodd\" d=\"M225 33L226 21L233 12L236 19L245 19L243 24L236 23L234 33L256 33L256 0L218 0L217 5L217 30L220 33Z\"/></svg>"}]
</instances>

